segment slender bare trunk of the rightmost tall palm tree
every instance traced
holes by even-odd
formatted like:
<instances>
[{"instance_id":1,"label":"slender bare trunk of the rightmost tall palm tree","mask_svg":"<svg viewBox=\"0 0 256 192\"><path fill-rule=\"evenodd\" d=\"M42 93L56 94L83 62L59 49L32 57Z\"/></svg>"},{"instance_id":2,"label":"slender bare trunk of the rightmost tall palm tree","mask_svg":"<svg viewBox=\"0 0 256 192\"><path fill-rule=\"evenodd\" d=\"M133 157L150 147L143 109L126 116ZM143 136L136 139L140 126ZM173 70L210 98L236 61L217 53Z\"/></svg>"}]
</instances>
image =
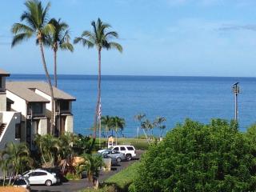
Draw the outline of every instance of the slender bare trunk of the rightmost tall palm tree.
<instances>
[{"instance_id":1,"label":"slender bare trunk of the rightmost tall palm tree","mask_svg":"<svg viewBox=\"0 0 256 192\"><path fill-rule=\"evenodd\" d=\"M94 138L96 138L96 130L97 130L97 116L98 116L98 106L101 98L101 60L102 60L102 55L101 55L101 49L98 49L98 98L97 98L97 104L96 104L96 109L95 109L95 115L94 115Z\"/></svg>"}]
</instances>

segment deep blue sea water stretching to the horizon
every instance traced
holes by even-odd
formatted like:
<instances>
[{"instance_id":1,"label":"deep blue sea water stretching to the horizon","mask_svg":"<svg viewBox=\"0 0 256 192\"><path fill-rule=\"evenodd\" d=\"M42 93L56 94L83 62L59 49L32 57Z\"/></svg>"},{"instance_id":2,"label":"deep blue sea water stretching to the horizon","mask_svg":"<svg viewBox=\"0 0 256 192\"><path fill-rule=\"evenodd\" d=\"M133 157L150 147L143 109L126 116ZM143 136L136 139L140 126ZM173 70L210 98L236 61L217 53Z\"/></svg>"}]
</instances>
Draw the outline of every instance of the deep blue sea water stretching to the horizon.
<instances>
[{"instance_id":1,"label":"deep blue sea water stretching to the horizon","mask_svg":"<svg viewBox=\"0 0 256 192\"><path fill-rule=\"evenodd\" d=\"M9 81L45 81L44 75L12 74ZM210 122L234 118L232 85L240 82L238 121L240 130L256 122L256 78L102 76L102 115L126 119L124 134L134 137L134 115L145 113L151 121L166 117L167 130L185 118ZM73 104L74 131L91 134L97 98L97 76L58 75L58 88L77 98ZM140 133L142 134L142 130ZM158 131L155 131L158 134Z\"/></svg>"}]
</instances>

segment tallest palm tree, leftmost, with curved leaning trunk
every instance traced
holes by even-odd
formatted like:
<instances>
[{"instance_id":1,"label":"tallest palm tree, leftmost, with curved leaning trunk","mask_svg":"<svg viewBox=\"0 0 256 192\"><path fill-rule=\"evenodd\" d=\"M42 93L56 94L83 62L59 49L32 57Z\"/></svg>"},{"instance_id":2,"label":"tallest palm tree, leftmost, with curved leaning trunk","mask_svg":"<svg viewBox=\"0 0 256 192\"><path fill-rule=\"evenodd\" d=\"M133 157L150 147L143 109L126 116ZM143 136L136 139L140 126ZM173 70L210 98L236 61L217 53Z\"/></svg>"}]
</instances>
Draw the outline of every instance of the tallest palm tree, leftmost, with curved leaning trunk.
<instances>
[{"instance_id":1,"label":"tallest palm tree, leftmost, with curved leaning trunk","mask_svg":"<svg viewBox=\"0 0 256 192\"><path fill-rule=\"evenodd\" d=\"M11 28L12 33L14 34L13 41L11 46L14 47L18 43L32 38L35 36L36 43L40 47L41 57L42 57L42 66L46 73L46 79L49 84L50 89L50 98L51 98L51 106L53 113L51 114L50 121L50 132L54 134L54 111L55 111L55 103L54 103L54 90L50 81L50 75L46 66L46 59L44 54L44 42L46 40L46 36L54 33L54 26L51 23L48 23L47 14L50 9L50 3L48 2L46 7L42 6L42 3L38 0L28 0L25 2L26 11L21 16L21 21L26 22L23 23L14 23Z\"/></svg>"}]
</instances>

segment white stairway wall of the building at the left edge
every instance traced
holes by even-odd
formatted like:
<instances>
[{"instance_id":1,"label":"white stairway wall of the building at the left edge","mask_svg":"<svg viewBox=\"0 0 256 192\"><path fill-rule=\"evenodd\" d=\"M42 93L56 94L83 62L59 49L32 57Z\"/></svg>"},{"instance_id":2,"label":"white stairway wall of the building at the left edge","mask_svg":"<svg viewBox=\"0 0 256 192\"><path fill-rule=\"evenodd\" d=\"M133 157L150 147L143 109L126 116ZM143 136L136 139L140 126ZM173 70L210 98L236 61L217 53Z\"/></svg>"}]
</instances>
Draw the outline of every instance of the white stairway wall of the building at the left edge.
<instances>
[{"instance_id":1,"label":"white stairway wall of the building at the left edge","mask_svg":"<svg viewBox=\"0 0 256 192\"><path fill-rule=\"evenodd\" d=\"M20 139L15 138L15 126L21 122L21 114L12 111L1 111L2 122L6 123L6 128L0 137L0 150L3 150L7 142L19 143Z\"/></svg>"}]
</instances>

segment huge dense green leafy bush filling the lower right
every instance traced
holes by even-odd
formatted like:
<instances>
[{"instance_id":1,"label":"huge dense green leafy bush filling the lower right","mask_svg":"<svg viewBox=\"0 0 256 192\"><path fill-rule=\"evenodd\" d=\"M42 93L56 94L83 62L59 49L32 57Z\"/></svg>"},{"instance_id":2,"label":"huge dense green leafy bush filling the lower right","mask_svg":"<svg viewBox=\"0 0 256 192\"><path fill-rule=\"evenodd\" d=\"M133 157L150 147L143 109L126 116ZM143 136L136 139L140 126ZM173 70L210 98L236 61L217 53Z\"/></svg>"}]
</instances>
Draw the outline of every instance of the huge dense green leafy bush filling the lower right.
<instances>
[{"instance_id":1,"label":"huge dense green leafy bush filling the lower right","mask_svg":"<svg viewBox=\"0 0 256 192\"><path fill-rule=\"evenodd\" d=\"M186 119L150 146L130 191L255 191L254 145L236 122Z\"/></svg>"}]
</instances>

